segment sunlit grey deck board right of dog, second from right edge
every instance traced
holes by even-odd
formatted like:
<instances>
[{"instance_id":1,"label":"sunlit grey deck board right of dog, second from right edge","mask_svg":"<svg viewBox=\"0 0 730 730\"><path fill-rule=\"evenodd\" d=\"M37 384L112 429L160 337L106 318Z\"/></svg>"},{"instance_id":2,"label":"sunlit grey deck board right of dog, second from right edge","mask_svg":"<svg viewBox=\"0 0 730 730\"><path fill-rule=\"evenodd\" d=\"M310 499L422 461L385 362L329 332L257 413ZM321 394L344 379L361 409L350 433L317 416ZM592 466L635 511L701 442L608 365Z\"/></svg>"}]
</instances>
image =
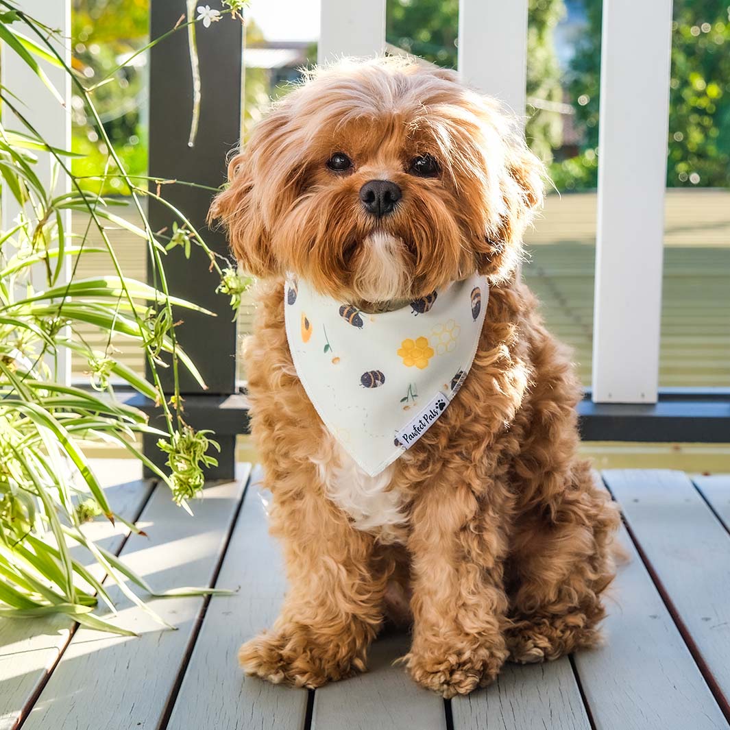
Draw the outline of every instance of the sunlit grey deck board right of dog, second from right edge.
<instances>
[{"instance_id":1,"label":"sunlit grey deck board right of dog, second from right edge","mask_svg":"<svg viewBox=\"0 0 730 730\"><path fill-rule=\"evenodd\" d=\"M712 677L730 697L730 535L682 472L609 470L603 475ZM639 587L629 583L624 593L630 605L637 602ZM648 597L637 607L645 605ZM637 649L645 651L647 640L645 633L634 634ZM674 693L681 696L687 680L676 679L681 683ZM670 702L668 694L661 702Z\"/></svg>"}]
</instances>

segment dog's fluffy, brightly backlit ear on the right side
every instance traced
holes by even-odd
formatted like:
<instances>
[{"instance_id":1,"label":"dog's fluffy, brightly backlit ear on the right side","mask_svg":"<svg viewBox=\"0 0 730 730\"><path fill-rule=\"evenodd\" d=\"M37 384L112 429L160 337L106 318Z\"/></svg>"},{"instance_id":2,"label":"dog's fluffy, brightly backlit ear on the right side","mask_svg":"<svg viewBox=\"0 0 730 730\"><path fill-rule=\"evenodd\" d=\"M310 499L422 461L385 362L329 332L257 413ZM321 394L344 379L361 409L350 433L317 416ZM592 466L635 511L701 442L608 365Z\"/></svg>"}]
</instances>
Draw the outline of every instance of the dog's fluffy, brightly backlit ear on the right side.
<instances>
[{"instance_id":1,"label":"dog's fluffy, brightly backlit ear on the right side","mask_svg":"<svg viewBox=\"0 0 730 730\"><path fill-rule=\"evenodd\" d=\"M545 166L521 139L512 142L507 151L499 190L502 210L487 231L486 250L480 253L477 266L494 283L516 269L523 235L544 199Z\"/></svg>"}]
</instances>

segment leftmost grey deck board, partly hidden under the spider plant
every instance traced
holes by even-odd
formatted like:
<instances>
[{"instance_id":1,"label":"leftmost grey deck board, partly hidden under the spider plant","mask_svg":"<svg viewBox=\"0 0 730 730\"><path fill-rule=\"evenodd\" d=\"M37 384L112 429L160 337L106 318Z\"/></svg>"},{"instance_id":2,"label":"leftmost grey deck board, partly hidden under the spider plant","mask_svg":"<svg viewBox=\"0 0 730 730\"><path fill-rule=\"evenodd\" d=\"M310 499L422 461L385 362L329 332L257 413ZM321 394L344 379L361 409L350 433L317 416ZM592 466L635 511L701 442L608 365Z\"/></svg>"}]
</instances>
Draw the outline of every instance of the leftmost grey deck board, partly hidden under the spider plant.
<instances>
[{"instance_id":1,"label":"leftmost grey deck board, partly hidden under the spider plant","mask_svg":"<svg viewBox=\"0 0 730 730\"><path fill-rule=\"evenodd\" d=\"M109 483L109 479L102 483ZM105 491L112 510L126 520L139 515L153 484L137 481L120 484ZM99 519L84 527L85 533L112 553L118 553L128 529L120 522L112 526L108 520ZM99 566L91 565L88 552L78 546L72 555L83 561L97 578ZM15 727L28 709L28 704L45 682L47 674L58 654L69 640L74 622L66 616L49 616L34 619L0 619L0 730Z\"/></svg>"}]
</instances>

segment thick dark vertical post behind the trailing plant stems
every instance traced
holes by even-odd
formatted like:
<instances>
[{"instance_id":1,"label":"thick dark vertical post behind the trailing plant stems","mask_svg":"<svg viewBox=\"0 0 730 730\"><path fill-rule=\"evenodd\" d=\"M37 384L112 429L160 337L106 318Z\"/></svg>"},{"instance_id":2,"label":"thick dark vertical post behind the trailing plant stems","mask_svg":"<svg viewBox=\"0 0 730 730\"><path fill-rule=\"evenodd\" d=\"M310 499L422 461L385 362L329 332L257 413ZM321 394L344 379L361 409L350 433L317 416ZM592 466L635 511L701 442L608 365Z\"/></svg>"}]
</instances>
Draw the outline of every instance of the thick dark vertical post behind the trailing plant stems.
<instances>
[{"instance_id":1,"label":"thick dark vertical post behind the trailing plant stems","mask_svg":"<svg viewBox=\"0 0 730 730\"><path fill-rule=\"evenodd\" d=\"M185 12L185 0L151 0L150 37L154 39L171 30ZM228 16L210 28L199 23L196 40L202 98L193 147L188 146L193 78L187 31L185 28L177 31L150 51L149 174L164 180L185 180L217 188L225 179L226 153L239 138L242 24ZM186 185L163 185L161 193L201 231L212 250L224 255L228 253L223 233L205 226L211 191ZM169 230L174 220L164 205L152 199L149 218L153 231ZM240 428L231 428L235 418L231 419L231 399L228 397L235 392L236 324L231 321L227 298L215 293L218 276L209 271L209 261L200 250L193 247L189 260L181 249L172 250L165 257L164 265L172 294L218 315L212 318L189 310L176 312L177 318L183 320L176 330L180 344L208 386L207 391L202 391L181 367L180 390L185 398L186 420L197 429L215 430L215 438L223 449L219 468L211 470L208 476L232 478L236 433L245 427L242 416ZM150 272L150 283L154 284L151 277ZM172 392L171 369L163 371L162 375L166 391ZM224 423L218 423L217 412L221 406L228 410ZM145 441L145 453L155 463L164 463L166 457L158 451L155 440Z\"/></svg>"}]
</instances>

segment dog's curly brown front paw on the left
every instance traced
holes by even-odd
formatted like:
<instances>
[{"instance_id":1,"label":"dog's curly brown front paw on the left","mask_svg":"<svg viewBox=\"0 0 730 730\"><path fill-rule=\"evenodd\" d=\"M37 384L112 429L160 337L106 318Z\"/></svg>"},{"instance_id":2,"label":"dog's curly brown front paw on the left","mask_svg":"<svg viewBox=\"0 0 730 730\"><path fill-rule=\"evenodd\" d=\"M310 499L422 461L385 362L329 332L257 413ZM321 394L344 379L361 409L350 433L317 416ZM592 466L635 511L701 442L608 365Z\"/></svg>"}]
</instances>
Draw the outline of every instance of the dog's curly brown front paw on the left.
<instances>
[{"instance_id":1,"label":"dog's curly brown front paw on the left","mask_svg":"<svg viewBox=\"0 0 730 730\"><path fill-rule=\"evenodd\" d=\"M304 626L292 626L246 642L238 659L247 675L314 689L364 671L364 653L364 647L348 650L336 637L318 642Z\"/></svg>"}]
</instances>

